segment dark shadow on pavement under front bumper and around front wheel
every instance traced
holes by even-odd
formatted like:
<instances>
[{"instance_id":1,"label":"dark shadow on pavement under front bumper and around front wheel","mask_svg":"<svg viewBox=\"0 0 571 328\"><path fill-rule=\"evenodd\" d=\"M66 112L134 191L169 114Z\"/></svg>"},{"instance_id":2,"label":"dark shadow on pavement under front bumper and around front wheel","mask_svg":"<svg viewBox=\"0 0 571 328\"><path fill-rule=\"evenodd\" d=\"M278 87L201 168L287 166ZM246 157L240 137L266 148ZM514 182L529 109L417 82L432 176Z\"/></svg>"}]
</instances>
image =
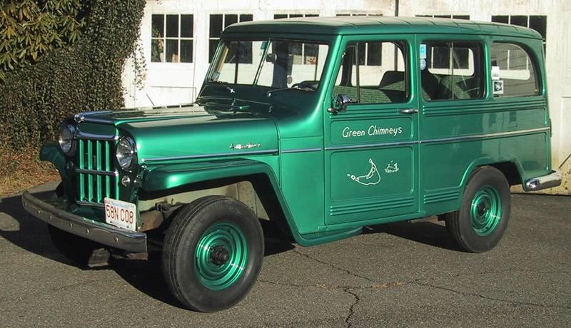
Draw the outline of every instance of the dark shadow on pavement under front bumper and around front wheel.
<instances>
[{"instance_id":1,"label":"dark shadow on pavement under front bumper and around front wheel","mask_svg":"<svg viewBox=\"0 0 571 328\"><path fill-rule=\"evenodd\" d=\"M48 198L53 191L33 193L39 198ZM36 255L66 265L79 267L81 270L113 270L128 284L140 290L149 297L161 302L182 308L181 304L171 295L163 280L161 272L161 252L148 253L148 260L126 260L111 257L109 265L89 269L86 265L72 262L62 255L56 248L47 229L46 223L29 215L21 203L21 195L13 195L0 199L0 237L33 252ZM294 248L278 230L276 225L267 220L261 220L264 232L264 256L272 256Z\"/></svg>"}]
</instances>

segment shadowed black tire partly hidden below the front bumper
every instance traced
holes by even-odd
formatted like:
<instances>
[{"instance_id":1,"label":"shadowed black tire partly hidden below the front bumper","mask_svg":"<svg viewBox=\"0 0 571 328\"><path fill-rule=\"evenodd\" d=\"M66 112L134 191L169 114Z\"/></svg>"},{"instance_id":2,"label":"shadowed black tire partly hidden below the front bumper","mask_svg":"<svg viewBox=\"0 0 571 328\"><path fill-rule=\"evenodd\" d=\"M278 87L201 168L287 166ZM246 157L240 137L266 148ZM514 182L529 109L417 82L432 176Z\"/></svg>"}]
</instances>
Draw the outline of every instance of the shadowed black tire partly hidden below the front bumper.
<instances>
[{"instance_id":1,"label":"shadowed black tire partly hidden below the front bumper","mask_svg":"<svg viewBox=\"0 0 571 328\"><path fill-rule=\"evenodd\" d=\"M53 225L48 225L51 241L65 257L76 265L86 267L89 265L94 250L101 249L103 245L89 239L73 235Z\"/></svg>"}]
</instances>

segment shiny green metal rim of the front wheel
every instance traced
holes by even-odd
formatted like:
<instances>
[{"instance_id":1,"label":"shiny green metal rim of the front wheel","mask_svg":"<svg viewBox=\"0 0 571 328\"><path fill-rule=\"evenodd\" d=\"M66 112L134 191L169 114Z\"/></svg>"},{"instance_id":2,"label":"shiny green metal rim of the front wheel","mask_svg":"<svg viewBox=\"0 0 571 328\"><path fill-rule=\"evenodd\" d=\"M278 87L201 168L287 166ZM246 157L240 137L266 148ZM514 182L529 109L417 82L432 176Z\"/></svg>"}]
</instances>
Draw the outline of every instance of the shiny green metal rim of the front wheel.
<instances>
[{"instance_id":1,"label":"shiny green metal rim of the front wheel","mask_svg":"<svg viewBox=\"0 0 571 328\"><path fill-rule=\"evenodd\" d=\"M248 245L242 230L233 223L213 225L196 246L195 271L208 289L230 287L246 270Z\"/></svg>"}]
</instances>

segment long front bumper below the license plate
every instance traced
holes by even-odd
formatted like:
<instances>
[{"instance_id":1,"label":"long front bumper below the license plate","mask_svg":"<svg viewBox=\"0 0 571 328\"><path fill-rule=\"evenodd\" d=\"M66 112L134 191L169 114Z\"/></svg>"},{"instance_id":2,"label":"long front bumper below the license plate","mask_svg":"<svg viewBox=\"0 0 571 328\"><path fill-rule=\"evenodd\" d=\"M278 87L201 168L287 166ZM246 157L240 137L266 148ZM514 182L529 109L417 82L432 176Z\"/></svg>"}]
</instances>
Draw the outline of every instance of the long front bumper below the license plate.
<instances>
[{"instance_id":1,"label":"long front bumper below the license plate","mask_svg":"<svg viewBox=\"0 0 571 328\"><path fill-rule=\"evenodd\" d=\"M66 212L27 191L22 194L22 205L31 215L74 235L129 252L147 251L147 235L143 232L124 230Z\"/></svg>"}]
</instances>

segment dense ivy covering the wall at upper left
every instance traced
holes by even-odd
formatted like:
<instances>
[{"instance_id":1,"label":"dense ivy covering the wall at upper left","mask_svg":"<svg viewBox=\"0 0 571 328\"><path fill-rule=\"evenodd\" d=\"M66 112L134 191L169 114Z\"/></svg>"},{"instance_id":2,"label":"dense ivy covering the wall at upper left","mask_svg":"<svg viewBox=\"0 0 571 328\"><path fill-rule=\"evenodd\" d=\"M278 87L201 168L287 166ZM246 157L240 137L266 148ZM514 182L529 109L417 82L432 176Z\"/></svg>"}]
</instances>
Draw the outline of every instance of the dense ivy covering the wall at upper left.
<instances>
[{"instance_id":1,"label":"dense ivy covering the wall at upper left","mask_svg":"<svg viewBox=\"0 0 571 328\"><path fill-rule=\"evenodd\" d=\"M33 2L65 4L61 8L66 10L60 8L58 13L66 12L64 16L73 17L68 19L74 22L67 24L74 24L74 29L64 32L54 29L60 35L59 41L48 36L44 41L51 46L36 55L31 54L34 46L26 48L24 35L26 54L21 56L21 51L16 51L16 61L11 62L14 69L0 63L5 73L4 82L0 83L0 143L15 149L37 147L45 140L55 139L59 123L71 114L123 106L123 66L135 49L146 3L145 0ZM81 6L74 5L79 3ZM0 11L3 15L8 12L5 4ZM10 12L12 18L16 14L19 19L19 11ZM56 26L59 25L52 27ZM69 31L75 31L74 36ZM45 38L53 35L51 32L39 32L39 36L30 38ZM1 56L6 56L4 50L0 51Z\"/></svg>"}]
</instances>

